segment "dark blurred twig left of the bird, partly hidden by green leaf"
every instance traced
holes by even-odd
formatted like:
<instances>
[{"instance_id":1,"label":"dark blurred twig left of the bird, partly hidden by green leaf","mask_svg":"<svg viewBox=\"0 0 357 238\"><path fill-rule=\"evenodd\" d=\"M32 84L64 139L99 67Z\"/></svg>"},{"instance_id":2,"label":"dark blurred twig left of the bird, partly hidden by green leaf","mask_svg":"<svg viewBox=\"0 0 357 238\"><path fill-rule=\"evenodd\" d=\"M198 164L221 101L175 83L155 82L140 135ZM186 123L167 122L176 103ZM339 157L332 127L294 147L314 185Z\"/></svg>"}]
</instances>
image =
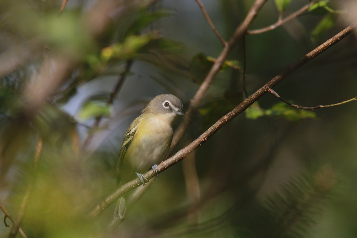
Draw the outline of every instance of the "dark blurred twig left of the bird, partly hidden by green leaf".
<instances>
[{"instance_id":1,"label":"dark blurred twig left of the bird, partly hidden by green leaf","mask_svg":"<svg viewBox=\"0 0 357 238\"><path fill-rule=\"evenodd\" d=\"M109 98L107 100L107 105L111 105L114 101L114 97L118 94L118 92L120 91L120 88L122 87L127 74L129 73L131 66L133 64L133 60L132 59L128 59L125 62L125 70L120 74L117 83L115 84L112 92L110 92ZM88 133L87 138L84 140L83 145L82 145L82 151L84 151L87 146L89 145L89 143L91 142L92 138L93 138L93 133L98 127L99 127L99 123L100 120L102 119L102 116L98 116L92 126L92 130L91 132Z\"/></svg>"}]
</instances>

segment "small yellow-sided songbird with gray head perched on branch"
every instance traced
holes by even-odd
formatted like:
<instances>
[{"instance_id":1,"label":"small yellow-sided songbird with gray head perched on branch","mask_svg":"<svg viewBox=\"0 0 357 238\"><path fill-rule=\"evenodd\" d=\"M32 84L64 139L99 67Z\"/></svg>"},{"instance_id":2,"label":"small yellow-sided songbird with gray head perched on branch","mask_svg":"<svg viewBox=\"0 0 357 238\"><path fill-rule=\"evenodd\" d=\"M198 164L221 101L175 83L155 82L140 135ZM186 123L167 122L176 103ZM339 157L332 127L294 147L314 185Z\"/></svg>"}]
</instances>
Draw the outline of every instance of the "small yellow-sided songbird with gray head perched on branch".
<instances>
[{"instance_id":1,"label":"small yellow-sided songbird with gray head perched on branch","mask_svg":"<svg viewBox=\"0 0 357 238\"><path fill-rule=\"evenodd\" d=\"M172 125L177 116L183 116L182 102L172 94L156 96L142 110L126 131L118 161L117 186L136 176L145 185L142 173L150 166L157 173L157 163L167 156L172 141ZM139 172L138 172L139 171ZM134 175L134 176L133 176ZM121 197L115 207L114 217L125 215L125 198Z\"/></svg>"}]
</instances>

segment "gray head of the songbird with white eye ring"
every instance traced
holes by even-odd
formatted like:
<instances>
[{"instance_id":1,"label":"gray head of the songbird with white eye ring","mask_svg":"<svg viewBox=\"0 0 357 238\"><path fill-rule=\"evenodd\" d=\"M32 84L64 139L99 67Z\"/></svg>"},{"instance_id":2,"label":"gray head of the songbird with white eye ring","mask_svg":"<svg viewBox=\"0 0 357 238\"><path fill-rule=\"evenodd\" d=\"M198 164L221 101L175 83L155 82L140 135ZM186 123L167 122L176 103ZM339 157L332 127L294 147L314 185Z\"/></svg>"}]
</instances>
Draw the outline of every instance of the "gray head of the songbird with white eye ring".
<instances>
[{"instance_id":1,"label":"gray head of the songbird with white eye ring","mask_svg":"<svg viewBox=\"0 0 357 238\"><path fill-rule=\"evenodd\" d=\"M183 116L182 108L182 102L178 97L172 94L161 94L152 99L143 112L175 117L176 115Z\"/></svg>"}]
</instances>

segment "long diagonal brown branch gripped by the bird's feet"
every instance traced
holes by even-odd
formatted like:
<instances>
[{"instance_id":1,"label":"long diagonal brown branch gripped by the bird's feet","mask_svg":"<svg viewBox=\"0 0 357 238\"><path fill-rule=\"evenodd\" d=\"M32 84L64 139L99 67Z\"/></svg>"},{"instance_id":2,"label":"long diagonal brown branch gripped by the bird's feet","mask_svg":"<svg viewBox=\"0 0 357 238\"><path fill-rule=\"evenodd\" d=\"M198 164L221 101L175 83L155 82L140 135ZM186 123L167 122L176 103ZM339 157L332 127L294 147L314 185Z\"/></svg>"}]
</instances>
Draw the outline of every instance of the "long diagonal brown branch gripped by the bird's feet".
<instances>
[{"instance_id":1,"label":"long diagonal brown branch gripped by the bird's feet","mask_svg":"<svg viewBox=\"0 0 357 238\"><path fill-rule=\"evenodd\" d=\"M296 61L294 64L287 67L286 70L275 76L269 82L267 82L264 86L259 88L255 93L246 98L243 102L241 102L238 106L233 108L232 111L228 112L225 116L223 116L220 120L218 120L215 124L213 124L207 131L205 131L201 136L199 136L196 140L192 141L190 145L178 151L175 155L171 156L169 159L162 161L157 165L157 170L159 173L171 167L178 161L183 158L186 158L193 150L196 150L197 147L202 145L205 141L208 140L213 134L215 134L218 130L220 130L227 122L231 121L234 117L241 114L245 111L249 106L251 106L258 98L262 97L265 93L268 92L269 88L274 87L287 76L292 74L292 72L299 69L301 66L305 65L308 61L312 60L316 56L320 55L323 51L327 50L331 46L335 45L337 42L342 40L345 36L350 34L355 29L353 24L349 25L337 35L333 36L331 39L324 42L322 45L318 46L301 59ZM146 180L150 180L155 177L156 174L153 171L146 172L144 177ZM134 189L141 185L139 178L136 178L118 188L115 192L110 194L104 201L102 201L99 205L97 205L90 213L90 218L94 219L99 216L107 207L110 206L114 201L116 201L119 197L121 197L126 192L129 192L131 189Z\"/></svg>"}]
</instances>

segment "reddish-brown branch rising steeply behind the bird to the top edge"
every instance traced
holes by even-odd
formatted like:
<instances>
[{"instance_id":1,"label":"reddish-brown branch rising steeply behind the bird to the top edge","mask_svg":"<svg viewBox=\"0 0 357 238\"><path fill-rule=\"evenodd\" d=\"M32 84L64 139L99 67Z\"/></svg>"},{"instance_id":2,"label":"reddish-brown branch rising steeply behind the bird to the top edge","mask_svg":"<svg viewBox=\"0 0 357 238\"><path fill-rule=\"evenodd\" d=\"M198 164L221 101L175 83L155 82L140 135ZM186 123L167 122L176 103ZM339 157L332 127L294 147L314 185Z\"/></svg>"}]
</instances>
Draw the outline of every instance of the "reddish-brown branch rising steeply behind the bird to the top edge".
<instances>
[{"instance_id":1,"label":"reddish-brown branch rising steeply behind the bird to the top edge","mask_svg":"<svg viewBox=\"0 0 357 238\"><path fill-rule=\"evenodd\" d=\"M246 18L243 22L237 27L236 31L233 33L231 39L227 42L223 48L221 54L217 57L216 62L213 64L210 72L208 72L205 80L202 82L201 86L198 88L195 96L193 96L190 105L185 112L185 117L183 118L180 125L178 125L177 130L175 131L174 137L172 138L169 154L174 150L178 141L182 138L183 134L186 132L188 126L191 124L193 117L196 115L197 108L200 106L203 96L205 96L206 91L210 87L213 79L216 77L218 71L220 71L222 65L226 61L228 54L231 52L238 39L240 39L245 32L247 31L248 26L251 24L253 19L256 17L263 4L267 0L256 0L249 10Z\"/></svg>"}]
</instances>

